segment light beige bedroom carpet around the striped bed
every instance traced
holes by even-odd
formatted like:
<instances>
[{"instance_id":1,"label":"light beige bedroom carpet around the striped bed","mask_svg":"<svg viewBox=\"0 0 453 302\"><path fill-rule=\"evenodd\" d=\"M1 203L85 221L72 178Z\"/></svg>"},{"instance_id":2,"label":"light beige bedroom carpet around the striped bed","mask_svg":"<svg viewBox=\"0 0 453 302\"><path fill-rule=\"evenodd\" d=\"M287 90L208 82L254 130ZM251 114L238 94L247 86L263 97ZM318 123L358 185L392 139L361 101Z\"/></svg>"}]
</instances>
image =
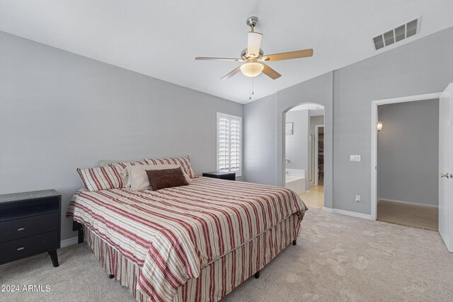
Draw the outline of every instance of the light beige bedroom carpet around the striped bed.
<instances>
[{"instance_id":1,"label":"light beige bedroom carpet around the striped bed","mask_svg":"<svg viewBox=\"0 0 453 302\"><path fill-rule=\"evenodd\" d=\"M453 255L437 232L311 209L289 245L223 301L452 301ZM0 301L132 301L86 245L0 266L1 284L49 284L48 293L0 292Z\"/></svg>"}]
</instances>

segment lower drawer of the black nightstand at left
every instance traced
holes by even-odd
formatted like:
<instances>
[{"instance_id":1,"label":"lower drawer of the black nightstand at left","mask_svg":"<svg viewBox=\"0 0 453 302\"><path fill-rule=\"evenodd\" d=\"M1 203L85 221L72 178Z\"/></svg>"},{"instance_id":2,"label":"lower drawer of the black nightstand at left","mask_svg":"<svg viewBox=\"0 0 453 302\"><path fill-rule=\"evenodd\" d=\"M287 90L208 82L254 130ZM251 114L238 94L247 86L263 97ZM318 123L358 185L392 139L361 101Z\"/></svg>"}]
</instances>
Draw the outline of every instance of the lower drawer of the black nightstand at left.
<instances>
[{"instance_id":1,"label":"lower drawer of the black nightstand at left","mask_svg":"<svg viewBox=\"0 0 453 302\"><path fill-rule=\"evenodd\" d=\"M0 265L58 248L58 231L0 243Z\"/></svg>"}]
</instances>

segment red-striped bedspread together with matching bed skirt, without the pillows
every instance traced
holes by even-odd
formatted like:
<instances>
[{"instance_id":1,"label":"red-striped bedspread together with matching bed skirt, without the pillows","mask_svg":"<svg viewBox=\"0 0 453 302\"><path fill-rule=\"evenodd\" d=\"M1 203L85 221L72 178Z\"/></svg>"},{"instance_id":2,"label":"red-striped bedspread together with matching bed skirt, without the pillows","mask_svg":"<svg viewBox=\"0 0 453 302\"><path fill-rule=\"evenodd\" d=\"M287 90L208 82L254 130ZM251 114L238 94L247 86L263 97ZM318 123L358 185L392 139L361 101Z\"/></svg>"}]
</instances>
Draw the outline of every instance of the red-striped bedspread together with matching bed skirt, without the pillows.
<instances>
[{"instance_id":1,"label":"red-striped bedspread together with matching bed skirt, without the pillows","mask_svg":"<svg viewBox=\"0 0 453 302\"><path fill-rule=\"evenodd\" d=\"M67 216L138 301L219 301L295 245L305 211L284 187L198 177L158 191L81 189Z\"/></svg>"}]
</instances>

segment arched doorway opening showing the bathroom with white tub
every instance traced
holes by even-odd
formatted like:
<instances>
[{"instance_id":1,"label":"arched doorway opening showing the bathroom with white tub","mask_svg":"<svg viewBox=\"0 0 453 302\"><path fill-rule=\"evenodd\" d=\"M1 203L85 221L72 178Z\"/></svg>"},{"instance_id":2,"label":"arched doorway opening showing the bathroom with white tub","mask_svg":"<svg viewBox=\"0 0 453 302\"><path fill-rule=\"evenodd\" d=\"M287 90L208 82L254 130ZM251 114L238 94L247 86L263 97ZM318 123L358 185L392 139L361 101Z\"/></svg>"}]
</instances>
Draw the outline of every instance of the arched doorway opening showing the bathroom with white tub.
<instances>
[{"instance_id":1,"label":"arched doorway opening showing the bathroom with white tub","mask_svg":"<svg viewBox=\"0 0 453 302\"><path fill-rule=\"evenodd\" d=\"M299 194L307 207L323 209L324 108L304 103L285 112L284 117L285 187Z\"/></svg>"}]
</instances>

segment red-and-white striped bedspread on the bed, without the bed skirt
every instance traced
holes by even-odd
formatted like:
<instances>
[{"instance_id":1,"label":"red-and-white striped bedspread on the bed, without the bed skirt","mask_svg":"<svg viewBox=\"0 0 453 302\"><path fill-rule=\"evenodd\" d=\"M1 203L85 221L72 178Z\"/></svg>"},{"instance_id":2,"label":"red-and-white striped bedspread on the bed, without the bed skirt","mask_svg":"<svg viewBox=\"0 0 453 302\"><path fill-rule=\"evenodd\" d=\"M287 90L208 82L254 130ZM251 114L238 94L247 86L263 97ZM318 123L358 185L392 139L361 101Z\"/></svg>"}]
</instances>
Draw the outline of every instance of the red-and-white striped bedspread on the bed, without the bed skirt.
<instances>
[{"instance_id":1,"label":"red-and-white striped bedspread on the bed, without the bed skirt","mask_svg":"<svg viewBox=\"0 0 453 302\"><path fill-rule=\"evenodd\" d=\"M283 187L195 178L159 191L79 190L67 216L142 267L142 294L171 301L202 267L305 210Z\"/></svg>"}]
</instances>

